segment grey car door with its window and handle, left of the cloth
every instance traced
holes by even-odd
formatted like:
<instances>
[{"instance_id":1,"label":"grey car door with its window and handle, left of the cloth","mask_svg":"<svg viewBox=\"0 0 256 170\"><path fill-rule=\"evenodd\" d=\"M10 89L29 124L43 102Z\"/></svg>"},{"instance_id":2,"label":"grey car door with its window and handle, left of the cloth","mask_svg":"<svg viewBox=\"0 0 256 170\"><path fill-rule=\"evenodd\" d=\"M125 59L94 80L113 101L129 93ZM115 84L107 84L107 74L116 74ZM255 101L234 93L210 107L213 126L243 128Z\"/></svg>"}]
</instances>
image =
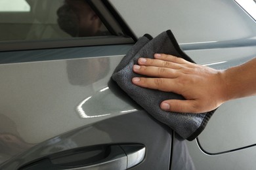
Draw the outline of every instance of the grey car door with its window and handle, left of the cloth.
<instances>
[{"instance_id":1,"label":"grey car door with its window and handle, left of the cloth","mask_svg":"<svg viewBox=\"0 0 256 170\"><path fill-rule=\"evenodd\" d=\"M110 3L2 3L0 169L170 168L173 131L111 80L137 40Z\"/></svg>"}]
</instances>

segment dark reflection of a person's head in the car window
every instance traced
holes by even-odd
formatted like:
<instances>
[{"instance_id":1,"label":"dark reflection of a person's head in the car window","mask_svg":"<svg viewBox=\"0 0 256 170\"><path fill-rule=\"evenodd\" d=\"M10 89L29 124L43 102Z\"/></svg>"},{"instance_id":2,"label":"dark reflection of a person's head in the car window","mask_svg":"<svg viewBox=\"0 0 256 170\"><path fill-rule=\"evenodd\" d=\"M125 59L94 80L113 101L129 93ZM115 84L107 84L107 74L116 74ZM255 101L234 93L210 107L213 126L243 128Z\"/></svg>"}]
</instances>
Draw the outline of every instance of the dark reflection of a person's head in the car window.
<instances>
[{"instance_id":1,"label":"dark reflection of a person's head in the car window","mask_svg":"<svg viewBox=\"0 0 256 170\"><path fill-rule=\"evenodd\" d=\"M65 0L57 11L58 25L72 37L107 35L100 18L84 0Z\"/></svg>"}]
</instances>

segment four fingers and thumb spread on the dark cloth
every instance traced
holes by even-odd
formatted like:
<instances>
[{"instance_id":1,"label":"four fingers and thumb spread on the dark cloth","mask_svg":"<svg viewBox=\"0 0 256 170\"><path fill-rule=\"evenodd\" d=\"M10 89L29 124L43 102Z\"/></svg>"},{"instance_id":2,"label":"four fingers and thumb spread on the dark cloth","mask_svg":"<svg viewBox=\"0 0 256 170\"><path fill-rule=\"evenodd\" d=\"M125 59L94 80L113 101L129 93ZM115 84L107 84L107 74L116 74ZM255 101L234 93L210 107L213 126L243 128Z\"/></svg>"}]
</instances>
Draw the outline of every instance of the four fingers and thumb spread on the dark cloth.
<instances>
[{"instance_id":1,"label":"four fingers and thumb spread on the dark cloth","mask_svg":"<svg viewBox=\"0 0 256 170\"><path fill-rule=\"evenodd\" d=\"M139 65L133 65L133 71L140 75L154 78L135 77L133 84L142 88L150 88L163 92L174 92L182 94L186 83L181 83L184 75L194 68L195 64L182 58L167 54L155 54L155 59L139 58ZM200 113L197 100L166 100L160 105L161 109L171 112L194 112Z\"/></svg>"}]
</instances>

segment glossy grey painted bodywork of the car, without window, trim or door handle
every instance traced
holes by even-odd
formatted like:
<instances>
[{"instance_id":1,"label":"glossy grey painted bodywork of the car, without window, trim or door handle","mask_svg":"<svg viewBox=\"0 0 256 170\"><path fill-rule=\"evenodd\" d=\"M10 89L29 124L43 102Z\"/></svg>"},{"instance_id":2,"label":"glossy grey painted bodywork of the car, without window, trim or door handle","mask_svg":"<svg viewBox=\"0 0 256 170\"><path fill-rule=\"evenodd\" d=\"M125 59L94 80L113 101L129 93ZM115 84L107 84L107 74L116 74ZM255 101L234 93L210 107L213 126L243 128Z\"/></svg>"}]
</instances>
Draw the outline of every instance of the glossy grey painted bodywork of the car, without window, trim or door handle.
<instances>
[{"instance_id":1,"label":"glossy grey painted bodywork of the car, without window, trim or door handle","mask_svg":"<svg viewBox=\"0 0 256 170\"><path fill-rule=\"evenodd\" d=\"M185 1L165 1L162 5L154 5L156 1L111 2L137 37L145 30L155 36L165 29L173 29L182 49L197 63L226 69L256 56L256 24L233 1L200 1L196 6L194 2L188 5L190 2ZM133 7L133 12L128 11L127 6ZM156 7L159 7L158 12L152 12ZM216 9L223 10L216 12ZM143 12L137 14L141 10ZM156 14L159 17L155 18ZM197 20L193 22L195 18ZM138 20L144 21L143 27L137 24ZM123 47L122 52L112 51L119 46L104 47L102 52L92 48L89 50L91 56L85 52L88 47L0 53L3 59L12 58L3 62L9 64L0 65L0 126L9 132L2 135L5 143L1 149L9 147L10 151L0 156L1 162L6 161L0 165L1 169L15 169L61 150L113 143L145 144L149 149L146 163L157 153L158 162L164 166L160 169L169 169L172 132L110 86L114 68L130 47ZM53 61L51 57L60 60ZM27 63L13 63L17 61ZM226 103L215 112L199 137L207 152L202 151L197 141L184 142L176 137L171 162L173 169L193 169L188 151L196 169L255 169L253 159L248 159L255 158L255 146L225 152L256 143L252 101L255 97L239 99ZM238 104L242 106L240 111L234 107ZM245 120L243 117L242 121L241 114L249 116ZM150 126L144 126L148 124ZM185 148L183 152L182 148ZM186 161L188 166L184 160L175 161L181 158L189 160ZM134 169L158 169L154 167L154 161L146 163Z\"/></svg>"}]
</instances>

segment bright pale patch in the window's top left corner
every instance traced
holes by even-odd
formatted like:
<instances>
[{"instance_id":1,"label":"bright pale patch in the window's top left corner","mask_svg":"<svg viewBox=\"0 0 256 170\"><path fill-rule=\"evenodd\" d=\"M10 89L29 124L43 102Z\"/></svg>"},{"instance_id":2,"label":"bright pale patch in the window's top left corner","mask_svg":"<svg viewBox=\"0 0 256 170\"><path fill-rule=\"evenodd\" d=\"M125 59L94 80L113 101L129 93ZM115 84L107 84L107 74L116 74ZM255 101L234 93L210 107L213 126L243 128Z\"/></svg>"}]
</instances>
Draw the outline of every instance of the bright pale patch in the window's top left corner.
<instances>
[{"instance_id":1,"label":"bright pale patch in the window's top left corner","mask_svg":"<svg viewBox=\"0 0 256 170\"><path fill-rule=\"evenodd\" d=\"M1 0L0 12L30 12L30 5L25 0Z\"/></svg>"}]
</instances>

